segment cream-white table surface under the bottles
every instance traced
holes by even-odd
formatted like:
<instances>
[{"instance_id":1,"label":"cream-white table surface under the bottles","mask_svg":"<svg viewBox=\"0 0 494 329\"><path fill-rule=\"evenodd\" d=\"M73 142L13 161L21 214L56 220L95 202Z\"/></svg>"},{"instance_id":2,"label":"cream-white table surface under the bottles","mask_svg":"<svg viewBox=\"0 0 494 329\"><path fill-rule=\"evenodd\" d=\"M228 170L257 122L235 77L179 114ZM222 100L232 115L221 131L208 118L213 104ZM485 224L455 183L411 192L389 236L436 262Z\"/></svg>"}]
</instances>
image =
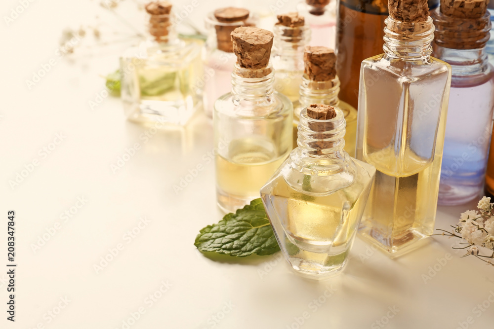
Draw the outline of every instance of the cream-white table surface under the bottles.
<instances>
[{"instance_id":1,"label":"cream-white table surface under the bottles","mask_svg":"<svg viewBox=\"0 0 494 329\"><path fill-rule=\"evenodd\" d=\"M225 4L203 1L190 16L195 22ZM0 12L8 15L17 5L4 1ZM133 8L125 0L118 10L132 21L138 16ZM103 47L98 56L81 46L31 90L26 86L54 57L61 31L92 24L96 15L103 31L123 26L96 0L34 1L1 26L0 328L494 327L494 303L488 301L491 294L494 300L494 267L460 258L451 249L455 241L445 237L430 238L427 246L395 260L357 239L344 273L323 283L296 276L280 254L241 262L201 255L193 245L196 234L222 217L208 160L211 122L204 115L183 132L161 131L145 141L141 134L154 130L126 122L119 99L104 98L92 110L89 101L104 90L100 75L117 68L124 44ZM57 134L63 141L51 144ZM111 166L135 143L140 149L114 173ZM43 147L52 151L44 154ZM12 188L9 181L33 160L39 165ZM198 164L204 170L175 193L173 185ZM78 198L87 201L82 205ZM474 207L475 202L440 207L436 227L448 228ZM5 313L6 221L12 209L15 323ZM65 211L72 217L61 217ZM140 218L148 222L137 229ZM54 225L59 229L34 251ZM133 238L126 235L132 229L138 232ZM96 273L94 265L119 244L119 254ZM429 273L434 267L439 271ZM150 294L159 298L152 301ZM479 311L483 302L490 307ZM126 327L139 310L143 314Z\"/></svg>"}]
</instances>

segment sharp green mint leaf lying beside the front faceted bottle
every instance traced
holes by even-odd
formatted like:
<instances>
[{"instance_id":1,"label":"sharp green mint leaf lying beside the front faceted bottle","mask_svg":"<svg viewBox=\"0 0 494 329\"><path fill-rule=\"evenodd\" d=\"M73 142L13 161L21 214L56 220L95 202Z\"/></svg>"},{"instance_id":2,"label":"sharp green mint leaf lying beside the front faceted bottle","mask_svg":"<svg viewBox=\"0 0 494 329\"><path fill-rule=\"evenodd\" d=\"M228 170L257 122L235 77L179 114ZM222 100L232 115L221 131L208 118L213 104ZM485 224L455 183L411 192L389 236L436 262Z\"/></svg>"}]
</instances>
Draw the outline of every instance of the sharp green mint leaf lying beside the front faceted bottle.
<instances>
[{"instance_id":1,"label":"sharp green mint leaf lying beside the front faceted bottle","mask_svg":"<svg viewBox=\"0 0 494 329\"><path fill-rule=\"evenodd\" d=\"M280 251L261 199L225 215L217 224L203 228L194 245L201 252L245 257L267 256Z\"/></svg>"}]
</instances>

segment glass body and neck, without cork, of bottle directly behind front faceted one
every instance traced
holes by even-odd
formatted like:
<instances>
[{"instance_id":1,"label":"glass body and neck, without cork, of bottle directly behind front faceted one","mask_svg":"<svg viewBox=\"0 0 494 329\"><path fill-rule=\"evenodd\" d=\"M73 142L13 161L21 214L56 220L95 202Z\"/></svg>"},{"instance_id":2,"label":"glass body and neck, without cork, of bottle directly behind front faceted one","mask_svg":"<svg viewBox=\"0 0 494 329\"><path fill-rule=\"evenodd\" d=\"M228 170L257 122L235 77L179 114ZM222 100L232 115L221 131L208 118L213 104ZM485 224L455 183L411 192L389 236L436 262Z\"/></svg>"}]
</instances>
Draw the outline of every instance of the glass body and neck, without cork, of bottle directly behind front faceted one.
<instances>
[{"instance_id":1,"label":"glass body and neck, without cork, of bottle directly behind front faceted one","mask_svg":"<svg viewBox=\"0 0 494 329\"><path fill-rule=\"evenodd\" d=\"M355 136L357 134L357 110L350 104L338 98L340 90L338 76L328 81L313 81L304 74L300 85L300 98L293 104L293 148L297 147L297 131L300 112L310 104L326 104L343 111L346 120L344 150L350 156L355 156Z\"/></svg>"}]
</instances>

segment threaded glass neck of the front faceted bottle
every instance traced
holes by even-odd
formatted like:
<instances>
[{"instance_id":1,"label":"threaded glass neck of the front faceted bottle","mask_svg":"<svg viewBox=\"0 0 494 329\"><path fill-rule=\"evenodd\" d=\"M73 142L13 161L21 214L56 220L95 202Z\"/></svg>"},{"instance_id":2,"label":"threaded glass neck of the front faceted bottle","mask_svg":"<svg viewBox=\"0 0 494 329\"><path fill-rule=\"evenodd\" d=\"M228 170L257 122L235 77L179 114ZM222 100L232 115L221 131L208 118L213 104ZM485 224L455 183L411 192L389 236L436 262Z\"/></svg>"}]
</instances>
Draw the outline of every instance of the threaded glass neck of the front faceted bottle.
<instances>
[{"instance_id":1,"label":"threaded glass neck of the front faceted bottle","mask_svg":"<svg viewBox=\"0 0 494 329\"><path fill-rule=\"evenodd\" d=\"M329 120L316 120L307 115L307 108L300 113L297 145L301 157L332 160L334 165L347 161L345 146L346 121L338 108L336 117Z\"/></svg>"}]
</instances>

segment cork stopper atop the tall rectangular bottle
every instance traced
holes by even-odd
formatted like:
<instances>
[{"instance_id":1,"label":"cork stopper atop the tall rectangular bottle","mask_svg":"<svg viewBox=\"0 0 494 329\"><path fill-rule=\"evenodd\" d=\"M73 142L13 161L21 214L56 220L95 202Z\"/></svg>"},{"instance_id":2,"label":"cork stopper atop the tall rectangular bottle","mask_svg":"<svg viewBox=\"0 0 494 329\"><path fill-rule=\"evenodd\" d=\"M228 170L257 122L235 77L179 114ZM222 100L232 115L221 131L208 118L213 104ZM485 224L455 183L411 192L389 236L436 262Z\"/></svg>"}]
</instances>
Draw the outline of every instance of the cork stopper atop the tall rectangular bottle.
<instances>
[{"instance_id":1,"label":"cork stopper atop the tall rectangular bottle","mask_svg":"<svg viewBox=\"0 0 494 329\"><path fill-rule=\"evenodd\" d=\"M429 17L427 0L389 0L389 16L400 22L425 22Z\"/></svg>"}]
</instances>

